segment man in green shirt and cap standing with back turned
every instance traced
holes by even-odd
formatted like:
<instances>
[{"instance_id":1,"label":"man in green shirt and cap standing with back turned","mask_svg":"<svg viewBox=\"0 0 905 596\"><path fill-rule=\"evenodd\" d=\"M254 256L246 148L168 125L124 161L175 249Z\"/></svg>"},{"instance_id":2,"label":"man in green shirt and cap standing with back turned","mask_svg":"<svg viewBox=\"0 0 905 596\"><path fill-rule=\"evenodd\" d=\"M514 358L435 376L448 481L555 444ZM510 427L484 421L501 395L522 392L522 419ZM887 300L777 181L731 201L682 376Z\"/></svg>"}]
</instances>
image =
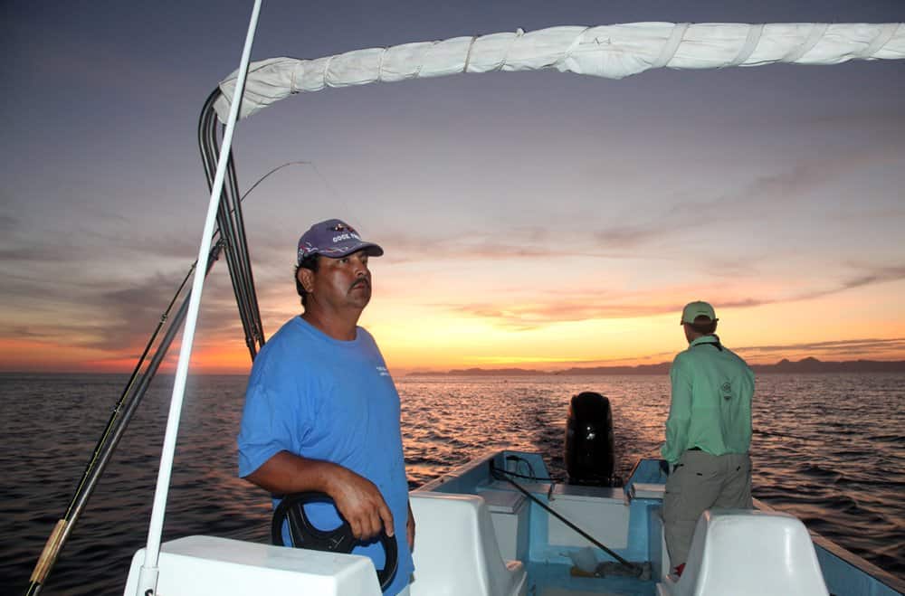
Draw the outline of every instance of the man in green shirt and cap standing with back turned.
<instances>
[{"instance_id":1,"label":"man in green shirt and cap standing with back turned","mask_svg":"<svg viewBox=\"0 0 905 596\"><path fill-rule=\"evenodd\" d=\"M661 453L672 473L663 521L678 575L705 509L752 507L748 447L754 373L719 343L717 320L707 302L686 305L681 326L689 347L670 368L672 402Z\"/></svg>"}]
</instances>

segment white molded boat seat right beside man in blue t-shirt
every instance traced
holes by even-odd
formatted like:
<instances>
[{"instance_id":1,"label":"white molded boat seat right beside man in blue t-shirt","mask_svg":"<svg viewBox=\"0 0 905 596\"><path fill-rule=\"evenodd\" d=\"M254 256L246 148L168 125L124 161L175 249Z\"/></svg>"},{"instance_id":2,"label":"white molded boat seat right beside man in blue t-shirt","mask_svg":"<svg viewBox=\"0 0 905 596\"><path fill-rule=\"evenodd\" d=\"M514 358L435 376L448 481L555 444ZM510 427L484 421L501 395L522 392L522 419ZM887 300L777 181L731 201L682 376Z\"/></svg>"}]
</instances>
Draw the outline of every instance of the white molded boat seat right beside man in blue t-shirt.
<instances>
[{"instance_id":1,"label":"white molded boat seat right beside man in blue t-shirt","mask_svg":"<svg viewBox=\"0 0 905 596\"><path fill-rule=\"evenodd\" d=\"M491 513L475 495L414 491L412 596L519 596L528 576L519 561L504 562Z\"/></svg>"}]
</instances>

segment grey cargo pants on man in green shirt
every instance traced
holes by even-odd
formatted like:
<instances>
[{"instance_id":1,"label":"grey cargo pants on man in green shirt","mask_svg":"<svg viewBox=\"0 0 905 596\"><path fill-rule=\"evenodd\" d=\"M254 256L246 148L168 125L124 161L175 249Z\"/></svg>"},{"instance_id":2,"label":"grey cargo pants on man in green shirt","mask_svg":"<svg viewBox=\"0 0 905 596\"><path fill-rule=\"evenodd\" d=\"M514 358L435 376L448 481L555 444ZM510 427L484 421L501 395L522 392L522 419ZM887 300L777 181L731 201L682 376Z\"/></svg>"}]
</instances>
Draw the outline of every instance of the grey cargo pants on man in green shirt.
<instances>
[{"instance_id":1,"label":"grey cargo pants on man in green shirt","mask_svg":"<svg viewBox=\"0 0 905 596\"><path fill-rule=\"evenodd\" d=\"M685 563L694 526L705 509L751 509L751 458L690 450L666 480L663 531L673 567Z\"/></svg>"}]
</instances>

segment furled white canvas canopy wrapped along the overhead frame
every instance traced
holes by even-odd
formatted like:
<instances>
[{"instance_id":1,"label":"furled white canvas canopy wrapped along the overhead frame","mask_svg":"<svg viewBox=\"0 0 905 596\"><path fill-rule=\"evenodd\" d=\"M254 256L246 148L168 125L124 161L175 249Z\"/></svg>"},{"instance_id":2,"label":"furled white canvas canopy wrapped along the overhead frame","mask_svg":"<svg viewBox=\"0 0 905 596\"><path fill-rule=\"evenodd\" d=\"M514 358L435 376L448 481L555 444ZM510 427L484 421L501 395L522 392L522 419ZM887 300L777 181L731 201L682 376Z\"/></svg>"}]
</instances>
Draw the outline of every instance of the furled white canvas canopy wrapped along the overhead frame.
<instances>
[{"instance_id":1,"label":"furled white canvas canopy wrapped along the overhead frame","mask_svg":"<svg viewBox=\"0 0 905 596\"><path fill-rule=\"evenodd\" d=\"M622 79L653 68L716 69L774 62L838 64L905 58L905 24L629 23L550 27L356 50L316 60L252 62L240 118L292 93L441 77L459 72L556 69ZM236 73L220 83L225 121Z\"/></svg>"}]
</instances>

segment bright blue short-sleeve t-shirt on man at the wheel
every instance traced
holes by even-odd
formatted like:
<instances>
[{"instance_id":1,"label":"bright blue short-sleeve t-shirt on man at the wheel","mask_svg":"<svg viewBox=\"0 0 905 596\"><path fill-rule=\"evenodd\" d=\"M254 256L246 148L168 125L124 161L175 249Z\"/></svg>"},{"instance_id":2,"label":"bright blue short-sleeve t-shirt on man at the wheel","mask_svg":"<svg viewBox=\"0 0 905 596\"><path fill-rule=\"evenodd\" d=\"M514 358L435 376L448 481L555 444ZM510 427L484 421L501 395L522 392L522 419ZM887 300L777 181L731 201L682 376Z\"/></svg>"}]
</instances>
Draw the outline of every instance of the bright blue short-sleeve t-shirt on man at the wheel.
<instances>
[{"instance_id":1,"label":"bright blue short-sleeve t-shirt on man at the wheel","mask_svg":"<svg viewBox=\"0 0 905 596\"><path fill-rule=\"evenodd\" d=\"M414 571L405 539L408 482L399 429L399 394L374 338L357 327L340 341L293 317L255 358L239 430L239 476L280 451L332 461L373 482L393 513L398 568L386 594L402 590ZM274 500L274 506L279 503ZM340 523L333 506L306 506L312 524ZM378 544L355 553L384 566Z\"/></svg>"}]
</instances>

